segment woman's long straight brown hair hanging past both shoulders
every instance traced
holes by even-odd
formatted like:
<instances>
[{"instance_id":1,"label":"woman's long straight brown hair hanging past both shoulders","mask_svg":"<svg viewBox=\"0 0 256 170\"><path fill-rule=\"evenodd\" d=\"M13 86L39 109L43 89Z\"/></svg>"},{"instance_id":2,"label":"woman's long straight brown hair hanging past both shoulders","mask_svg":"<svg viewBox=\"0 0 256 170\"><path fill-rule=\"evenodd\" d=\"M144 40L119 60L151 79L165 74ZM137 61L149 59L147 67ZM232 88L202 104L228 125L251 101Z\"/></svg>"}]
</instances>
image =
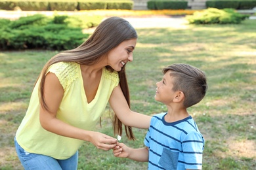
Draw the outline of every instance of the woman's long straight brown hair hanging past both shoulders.
<instances>
[{"instance_id":1,"label":"woman's long straight brown hair hanging past both shoulders","mask_svg":"<svg viewBox=\"0 0 256 170\"><path fill-rule=\"evenodd\" d=\"M45 76L51 65L60 61L73 61L81 65L93 65L100 61L104 56L107 56L108 52L118 46L121 42L129 39L137 39L137 32L133 26L127 22L127 20L114 16L101 22L98 27L96 27L93 35L91 35L87 41L83 42L83 44L77 48L60 52L53 58L49 59L40 74L41 82L39 85L39 101L43 108L49 110L43 93ZM107 66L106 68L110 71L114 71L112 67ZM118 75L121 90L130 107L129 88L125 74L125 67L118 72ZM122 134L122 123L117 118L116 114L114 114L113 127L114 134ZM135 139L130 126L125 126L125 133L129 139Z\"/></svg>"}]
</instances>

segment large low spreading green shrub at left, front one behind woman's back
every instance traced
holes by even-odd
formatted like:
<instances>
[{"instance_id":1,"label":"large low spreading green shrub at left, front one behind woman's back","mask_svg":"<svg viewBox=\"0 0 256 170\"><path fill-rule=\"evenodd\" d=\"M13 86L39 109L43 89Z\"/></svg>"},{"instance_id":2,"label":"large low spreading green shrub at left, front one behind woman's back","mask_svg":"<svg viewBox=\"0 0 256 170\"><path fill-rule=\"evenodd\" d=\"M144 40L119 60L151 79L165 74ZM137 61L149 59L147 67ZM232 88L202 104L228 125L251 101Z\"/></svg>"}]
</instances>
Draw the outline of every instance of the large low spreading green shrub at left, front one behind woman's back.
<instances>
[{"instance_id":1,"label":"large low spreading green shrub at left, front one behind woman's back","mask_svg":"<svg viewBox=\"0 0 256 170\"><path fill-rule=\"evenodd\" d=\"M14 29L0 35L0 48L2 49L33 49L43 48L49 50L70 50L79 46L89 37L79 28L70 28L62 24L46 25L45 27L32 26L27 29Z\"/></svg>"}]
</instances>

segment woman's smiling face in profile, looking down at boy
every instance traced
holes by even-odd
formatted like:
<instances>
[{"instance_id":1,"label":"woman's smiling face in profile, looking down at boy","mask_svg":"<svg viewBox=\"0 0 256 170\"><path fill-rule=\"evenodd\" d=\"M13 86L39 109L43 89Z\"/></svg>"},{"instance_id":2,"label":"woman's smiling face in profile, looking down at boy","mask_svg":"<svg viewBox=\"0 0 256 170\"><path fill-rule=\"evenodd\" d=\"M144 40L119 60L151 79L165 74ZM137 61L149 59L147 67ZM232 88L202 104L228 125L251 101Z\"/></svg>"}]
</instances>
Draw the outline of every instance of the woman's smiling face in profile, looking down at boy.
<instances>
[{"instance_id":1,"label":"woman's smiling face in profile, looking down at boy","mask_svg":"<svg viewBox=\"0 0 256 170\"><path fill-rule=\"evenodd\" d=\"M116 48L108 53L108 65L115 71L121 71L121 68L128 62L133 61L133 50L135 49L137 39L130 39L121 42Z\"/></svg>"}]
</instances>

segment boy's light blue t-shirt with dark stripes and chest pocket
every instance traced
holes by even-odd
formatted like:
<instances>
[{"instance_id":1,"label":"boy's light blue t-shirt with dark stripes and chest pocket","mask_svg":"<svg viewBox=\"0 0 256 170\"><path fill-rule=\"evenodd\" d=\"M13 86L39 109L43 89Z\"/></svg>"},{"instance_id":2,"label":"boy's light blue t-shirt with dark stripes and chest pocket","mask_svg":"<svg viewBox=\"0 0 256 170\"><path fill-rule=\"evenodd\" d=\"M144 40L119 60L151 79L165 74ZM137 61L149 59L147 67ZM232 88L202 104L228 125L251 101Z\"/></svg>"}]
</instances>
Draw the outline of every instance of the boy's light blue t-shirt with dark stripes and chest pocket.
<instances>
[{"instance_id":1,"label":"boy's light blue t-shirt with dark stripes and chest pocket","mask_svg":"<svg viewBox=\"0 0 256 170\"><path fill-rule=\"evenodd\" d=\"M167 113L152 117L144 139L149 148L148 169L202 169L204 139L191 116L165 122Z\"/></svg>"}]
</instances>

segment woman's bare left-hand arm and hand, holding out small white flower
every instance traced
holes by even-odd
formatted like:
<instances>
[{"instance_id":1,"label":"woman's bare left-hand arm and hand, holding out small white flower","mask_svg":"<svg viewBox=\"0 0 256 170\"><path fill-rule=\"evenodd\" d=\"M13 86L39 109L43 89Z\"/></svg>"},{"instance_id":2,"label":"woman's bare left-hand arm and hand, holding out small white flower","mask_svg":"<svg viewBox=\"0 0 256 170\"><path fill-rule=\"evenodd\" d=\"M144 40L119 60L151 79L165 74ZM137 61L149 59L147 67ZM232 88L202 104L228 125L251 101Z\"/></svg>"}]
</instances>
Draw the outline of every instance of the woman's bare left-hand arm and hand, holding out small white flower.
<instances>
[{"instance_id":1,"label":"woman's bare left-hand arm and hand, holding out small white flower","mask_svg":"<svg viewBox=\"0 0 256 170\"><path fill-rule=\"evenodd\" d=\"M47 131L51 131L58 135L89 141L97 148L102 150L110 150L116 146L117 140L108 135L96 131L86 131L71 126L56 118L56 112L60 107L60 102L64 95L64 90L53 73L48 73L45 79L45 101L49 107L49 111L40 107L40 123Z\"/></svg>"}]
</instances>

